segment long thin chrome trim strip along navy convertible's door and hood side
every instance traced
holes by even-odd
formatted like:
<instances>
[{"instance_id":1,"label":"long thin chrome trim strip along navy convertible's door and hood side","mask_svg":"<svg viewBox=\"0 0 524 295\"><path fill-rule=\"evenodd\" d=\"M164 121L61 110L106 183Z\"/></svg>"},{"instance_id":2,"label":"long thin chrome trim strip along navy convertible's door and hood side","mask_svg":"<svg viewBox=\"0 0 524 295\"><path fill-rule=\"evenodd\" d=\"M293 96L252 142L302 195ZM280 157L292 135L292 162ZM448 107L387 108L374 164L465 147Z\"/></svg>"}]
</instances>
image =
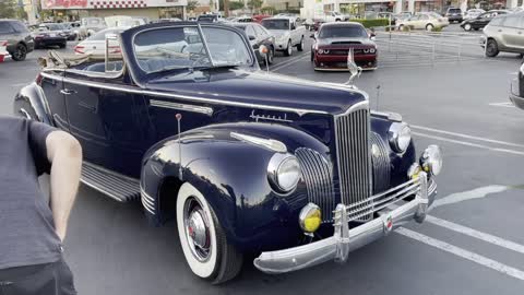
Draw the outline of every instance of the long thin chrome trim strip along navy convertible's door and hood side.
<instances>
[{"instance_id":1,"label":"long thin chrome trim strip along navy convertible's door and hood side","mask_svg":"<svg viewBox=\"0 0 524 295\"><path fill-rule=\"evenodd\" d=\"M225 102L225 101L219 101L219 99L195 97L195 96L189 96L189 95L179 95L179 94L171 94L171 93L146 91L146 90L142 90L142 88L130 88L130 87L123 87L123 86L115 86L115 85L109 85L109 84L106 84L106 83L99 83L99 82L93 82L93 81L83 81L83 80L79 80L79 79L74 79L74 78L67 78L67 76L62 78L62 76L46 73L46 72L41 72L40 74L45 78L53 79L53 80L60 80L62 82L68 82L68 83L73 83L73 84L79 84L79 85L85 85L85 86L90 86L90 87L99 87L99 88L105 88L105 90L121 91L121 92L134 93L134 94L141 94L141 95L151 95L151 96L158 96L158 97L187 99L187 101L199 102L199 103L213 103L213 104L221 104L221 105L231 105L231 106L247 107L247 108L263 108L263 109L270 109L270 110L289 111L289 113L298 114L299 116L302 116L305 114L329 115L329 113L326 113L326 111L317 110L317 109L300 109L300 108L258 105L258 104L239 103L239 102Z\"/></svg>"}]
</instances>

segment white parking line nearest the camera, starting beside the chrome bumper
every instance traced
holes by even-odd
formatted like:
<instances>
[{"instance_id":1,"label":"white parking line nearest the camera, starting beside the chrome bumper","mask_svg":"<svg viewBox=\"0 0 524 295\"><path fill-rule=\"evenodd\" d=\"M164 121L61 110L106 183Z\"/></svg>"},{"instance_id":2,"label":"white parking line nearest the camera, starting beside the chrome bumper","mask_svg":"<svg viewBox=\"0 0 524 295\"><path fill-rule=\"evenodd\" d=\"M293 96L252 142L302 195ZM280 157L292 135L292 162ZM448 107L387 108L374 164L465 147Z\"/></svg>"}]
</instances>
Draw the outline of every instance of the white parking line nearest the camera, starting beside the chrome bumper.
<instances>
[{"instance_id":1,"label":"white parking line nearest the camera, starting beside the chrome bumper","mask_svg":"<svg viewBox=\"0 0 524 295\"><path fill-rule=\"evenodd\" d=\"M469 260L472 262L475 262L477 264L484 266L486 268L492 269L495 271L498 271L502 274L519 279L521 281L524 281L524 271L509 267L507 264L500 263L498 261L495 261L490 258L480 256L478 253L468 251L466 249L456 247L454 245L448 244L445 241L419 234L417 232L401 227L395 231L395 233L401 234L405 237L415 239L417 241L420 241L422 244L429 245L431 247L438 248L442 251L462 257L466 260Z\"/></svg>"}]
</instances>

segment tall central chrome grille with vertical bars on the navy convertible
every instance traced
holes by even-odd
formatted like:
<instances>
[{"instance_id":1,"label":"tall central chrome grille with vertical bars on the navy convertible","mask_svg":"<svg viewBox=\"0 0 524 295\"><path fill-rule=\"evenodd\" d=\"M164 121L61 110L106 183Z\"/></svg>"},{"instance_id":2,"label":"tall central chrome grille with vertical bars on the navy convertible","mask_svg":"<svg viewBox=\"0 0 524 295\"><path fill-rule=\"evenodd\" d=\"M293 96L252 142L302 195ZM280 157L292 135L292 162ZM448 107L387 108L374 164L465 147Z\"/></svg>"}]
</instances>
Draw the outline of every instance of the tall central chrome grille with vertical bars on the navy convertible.
<instances>
[{"instance_id":1,"label":"tall central chrome grille with vertical bars on the navy convertible","mask_svg":"<svg viewBox=\"0 0 524 295\"><path fill-rule=\"evenodd\" d=\"M360 108L335 117L336 156L341 199L357 209L372 206L369 110ZM366 221L369 216L359 216Z\"/></svg>"}]
</instances>

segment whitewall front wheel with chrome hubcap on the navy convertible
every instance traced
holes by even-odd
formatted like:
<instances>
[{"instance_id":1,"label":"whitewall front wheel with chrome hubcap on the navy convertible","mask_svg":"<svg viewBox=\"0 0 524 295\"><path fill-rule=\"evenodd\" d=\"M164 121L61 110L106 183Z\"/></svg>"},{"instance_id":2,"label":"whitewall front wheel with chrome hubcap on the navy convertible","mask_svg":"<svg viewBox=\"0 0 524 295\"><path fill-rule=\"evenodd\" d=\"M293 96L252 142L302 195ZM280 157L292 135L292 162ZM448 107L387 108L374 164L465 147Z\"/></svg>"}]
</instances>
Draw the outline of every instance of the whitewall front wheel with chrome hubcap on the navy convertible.
<instances>
[{"instance_id":1,"label":"whitewall front wheel with chrome hubcap on the navy convertible","mask_svg":"<svg viewBox=\"0 0 524 295\"><path fill-rule=\"evenodd\" d=\"M219 284L239 273L242 255L227 241L213 209L189 182L178 191L177 226L183 256L195 275Z\"/></svg>"}]
</instances>

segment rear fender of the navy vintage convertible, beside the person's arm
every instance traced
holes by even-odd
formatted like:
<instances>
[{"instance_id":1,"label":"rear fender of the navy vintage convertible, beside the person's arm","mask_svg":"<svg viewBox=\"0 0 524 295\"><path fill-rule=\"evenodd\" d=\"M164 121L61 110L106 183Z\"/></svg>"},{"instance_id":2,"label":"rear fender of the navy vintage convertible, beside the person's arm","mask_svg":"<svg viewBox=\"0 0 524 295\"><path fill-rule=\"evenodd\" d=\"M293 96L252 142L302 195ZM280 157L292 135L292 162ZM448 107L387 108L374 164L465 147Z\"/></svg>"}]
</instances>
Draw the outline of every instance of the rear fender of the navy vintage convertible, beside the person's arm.
<instances>
[{"instance_id":1,"label":"rear fender of the navy vintage convertible, beside the person's arm","mask_svg":"<svg viewBox=\"0 0 524 295\"><path fill-rule=\"evenodd\" d=\"M53 125L46 95L35 82L16 93L13 102L13 115Z\"/></svg>"}]
</instances>

